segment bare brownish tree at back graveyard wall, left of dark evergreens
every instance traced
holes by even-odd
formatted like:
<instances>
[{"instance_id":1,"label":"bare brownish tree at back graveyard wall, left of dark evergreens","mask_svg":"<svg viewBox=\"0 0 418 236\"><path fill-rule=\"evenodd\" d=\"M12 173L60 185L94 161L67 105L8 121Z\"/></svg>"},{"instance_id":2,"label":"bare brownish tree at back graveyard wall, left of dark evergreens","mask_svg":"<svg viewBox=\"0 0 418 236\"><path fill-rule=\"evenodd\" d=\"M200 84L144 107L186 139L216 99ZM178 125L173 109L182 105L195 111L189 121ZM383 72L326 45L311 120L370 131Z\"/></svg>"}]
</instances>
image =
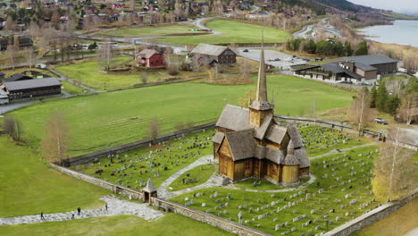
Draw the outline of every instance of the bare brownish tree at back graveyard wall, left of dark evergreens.
<instances>
[{"instance_id":1,"label":"bare brownish tree at back graveyard wall, left of dark evergreens","mask_svg":"<svg viewBox=\"0 0 418 236\"><path fill-rule=\"evenodd\" d=\"M357 124L360 135L364 126L372 121L372 110L370 108L370 96L366 88L361 89L351 104L350 121Z\"/></svg>"}]
</instances>

